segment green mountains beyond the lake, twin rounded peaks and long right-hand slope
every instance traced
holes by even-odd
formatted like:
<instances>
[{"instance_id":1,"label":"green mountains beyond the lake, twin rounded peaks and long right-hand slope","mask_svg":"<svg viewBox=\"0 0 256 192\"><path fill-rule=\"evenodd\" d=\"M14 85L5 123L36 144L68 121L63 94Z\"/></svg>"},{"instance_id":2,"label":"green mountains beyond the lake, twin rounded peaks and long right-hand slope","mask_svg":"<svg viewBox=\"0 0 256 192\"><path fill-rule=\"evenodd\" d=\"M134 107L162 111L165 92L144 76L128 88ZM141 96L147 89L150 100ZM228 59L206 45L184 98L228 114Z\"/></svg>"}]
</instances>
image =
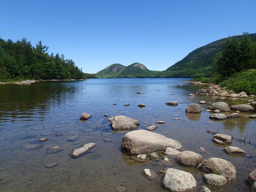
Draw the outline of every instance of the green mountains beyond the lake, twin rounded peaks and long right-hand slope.
<instances>
[{"instance_id":1,"label":"green mountains beyond the lake, twin rounded peaks and long right-hand slope","mask_svg":"<svg viewBox=\"0 0 256 192\"><path fill-rule=\"evenodd\" d=\"M256 33L249 34L249 36L256 42ZM243 35L235 37L240 41ZM148 70L141 63L133 63L127 67L113 64L95 75L98 78L192 78L212 76L215 71L213 66L214 56L224 49L228 38L232 37L222 38L195 49L165 71Z\"/></svg>"}]
</instances>

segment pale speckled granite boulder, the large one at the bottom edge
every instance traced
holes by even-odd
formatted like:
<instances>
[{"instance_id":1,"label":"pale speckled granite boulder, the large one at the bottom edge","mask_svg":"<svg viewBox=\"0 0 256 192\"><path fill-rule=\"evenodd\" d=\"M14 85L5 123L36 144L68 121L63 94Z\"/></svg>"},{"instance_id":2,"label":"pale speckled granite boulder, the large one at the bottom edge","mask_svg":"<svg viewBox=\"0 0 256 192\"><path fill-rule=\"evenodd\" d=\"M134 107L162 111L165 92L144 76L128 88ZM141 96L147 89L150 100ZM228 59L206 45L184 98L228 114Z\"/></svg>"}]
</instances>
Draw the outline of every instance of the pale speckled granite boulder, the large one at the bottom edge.
<instances>
[{"instance_id":1,"label":"pale speckled granite boulder, the large one at the bottom edge","mask_svg":"<svg viewBox=\"0 0 256 192\"><path fill-rule=\"evenodd\" d=\"M162 186L172 192L187 191L196 187L196 180L189 172L168 168L164 172Z\"/></svg>"}]
</instances>

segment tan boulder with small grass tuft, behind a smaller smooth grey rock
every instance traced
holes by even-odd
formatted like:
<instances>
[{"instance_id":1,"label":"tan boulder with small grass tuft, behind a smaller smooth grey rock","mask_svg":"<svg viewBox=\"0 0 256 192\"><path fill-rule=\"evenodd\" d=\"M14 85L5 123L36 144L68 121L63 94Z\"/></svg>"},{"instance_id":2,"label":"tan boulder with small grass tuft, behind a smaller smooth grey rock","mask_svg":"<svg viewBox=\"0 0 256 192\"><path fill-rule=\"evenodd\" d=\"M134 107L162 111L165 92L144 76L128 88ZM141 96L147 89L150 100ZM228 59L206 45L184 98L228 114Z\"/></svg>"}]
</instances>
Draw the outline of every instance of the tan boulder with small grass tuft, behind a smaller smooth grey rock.
<instances>
[{"instance_id":1,"label":"tan boulder with small grass tuft, behind a smaller smooth grey rock","mask_svg":"<svg viewBox=\"0 0 256 192\"><path fill-rule=\"evenodd\" d=\"M236 179L236 168L232 163L221 158L212 157L208 160L204 160L201 163L201 168L206 173L212 173L218 171L220 175L230 180Z\"/></svg>"}]
</instances>

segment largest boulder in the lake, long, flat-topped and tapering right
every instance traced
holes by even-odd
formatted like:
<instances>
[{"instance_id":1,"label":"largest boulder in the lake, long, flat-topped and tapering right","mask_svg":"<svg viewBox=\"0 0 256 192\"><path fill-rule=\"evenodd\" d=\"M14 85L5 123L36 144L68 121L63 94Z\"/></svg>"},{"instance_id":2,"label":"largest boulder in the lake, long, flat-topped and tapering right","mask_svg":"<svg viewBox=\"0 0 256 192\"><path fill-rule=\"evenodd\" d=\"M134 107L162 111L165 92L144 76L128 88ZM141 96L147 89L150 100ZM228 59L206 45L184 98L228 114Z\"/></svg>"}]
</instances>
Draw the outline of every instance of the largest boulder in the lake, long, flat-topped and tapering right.
<instances>
[{"instance_id":1,"label":"largest boulder in the lake, long, flat-topped and tapering right","mask_svg":"<svg viewBox=\"0 0 256 192\"><path fill-rule=\"evenodd\" d=\"M165 151L167 147L180 149L182 145L179 141L147 130L136 130L126 133L121 145L125 152L132 155Z\"/></svg>"}]
</instances>

